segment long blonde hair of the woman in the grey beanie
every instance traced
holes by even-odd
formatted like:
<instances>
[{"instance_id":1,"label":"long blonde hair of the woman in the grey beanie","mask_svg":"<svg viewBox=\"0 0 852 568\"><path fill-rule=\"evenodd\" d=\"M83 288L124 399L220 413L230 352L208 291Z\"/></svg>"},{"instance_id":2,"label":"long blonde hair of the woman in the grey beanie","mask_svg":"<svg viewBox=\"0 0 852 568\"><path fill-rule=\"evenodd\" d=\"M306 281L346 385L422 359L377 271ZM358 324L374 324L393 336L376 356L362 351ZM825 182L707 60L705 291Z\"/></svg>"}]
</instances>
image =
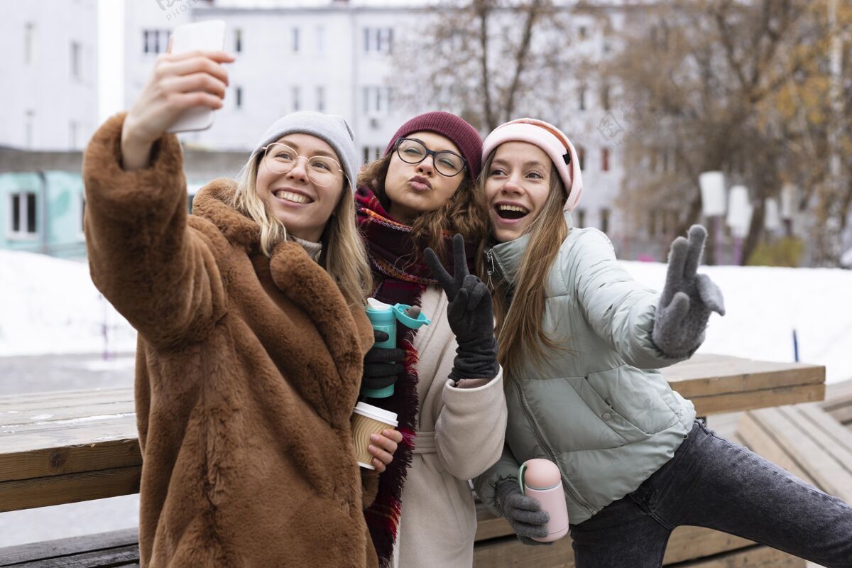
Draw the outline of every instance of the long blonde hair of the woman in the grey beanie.
<instances>
[{"instance_id":1,"label":"long blonde hair of the woman in the grey beanie","mask_svg":"<svg viewBox=\"0 0 852 568\"><path fill-rule=\"evenodd\" d=\"M262 158L262 154L251 156L240 172L233 208L261 227L261 250L269 256L276 244L286 240L287 228L257 195L257 169ZM355 226L355 204L348 179L344 178L340 200L325 225L320 243L320 266L337 283L350 307L363 306L370 295L372 276L364 243Z\"/></svg>"}]
</instances>

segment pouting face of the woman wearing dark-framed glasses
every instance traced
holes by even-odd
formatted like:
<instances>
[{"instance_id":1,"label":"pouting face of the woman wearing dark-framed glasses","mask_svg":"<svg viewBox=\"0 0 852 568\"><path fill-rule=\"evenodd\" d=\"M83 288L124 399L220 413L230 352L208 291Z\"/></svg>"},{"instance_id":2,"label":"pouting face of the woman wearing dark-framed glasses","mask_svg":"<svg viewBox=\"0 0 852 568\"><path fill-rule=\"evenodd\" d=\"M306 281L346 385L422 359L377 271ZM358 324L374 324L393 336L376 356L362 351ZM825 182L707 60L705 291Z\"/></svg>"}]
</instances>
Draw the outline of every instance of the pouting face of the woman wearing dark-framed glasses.
<instances>
[{"instance_id":1,"label":"pouting face of the woman wearing dark-framed glasses","mask_svg":"<svg viewBox=\"0 0 852 568\"><path fill-rule=\"evenodd\" d=\"M421 141L435 152L449 151L461 155L449 138L435 132L415 132L406 138ZM447 177L435 170L433 160L433 156L427 156L420 164L407 164L396 151L393 152L384 179L384 192L390 201L388 213L391 217L410 223L421 213L440 209L455 194L466 170Z\"/></svg>"}]
</instances>

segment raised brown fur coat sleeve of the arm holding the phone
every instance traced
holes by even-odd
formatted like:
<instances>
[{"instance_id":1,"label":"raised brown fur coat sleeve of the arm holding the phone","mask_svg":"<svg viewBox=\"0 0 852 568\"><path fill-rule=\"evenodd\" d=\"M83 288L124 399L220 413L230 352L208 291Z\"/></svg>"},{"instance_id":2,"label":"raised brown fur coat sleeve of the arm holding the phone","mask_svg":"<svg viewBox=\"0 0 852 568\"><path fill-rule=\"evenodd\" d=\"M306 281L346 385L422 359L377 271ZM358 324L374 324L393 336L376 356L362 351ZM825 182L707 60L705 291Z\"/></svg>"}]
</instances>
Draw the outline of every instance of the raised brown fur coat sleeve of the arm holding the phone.
<instances>
[{"instance_id":1,"label":"raised brown fur coat sleeve of the arm holding the phone","mask_svg":"<svg viewBox=\"0 0 852 568\"><path fill-rule=\"evenodd\" d=\"M200 341L226 312L226 288L203 232L187 228L181 146L164 135L145 169L124 171L124 114L99 129L83 158L83 227L92 280L154 346Z\"/></svg>"}]
</instances>

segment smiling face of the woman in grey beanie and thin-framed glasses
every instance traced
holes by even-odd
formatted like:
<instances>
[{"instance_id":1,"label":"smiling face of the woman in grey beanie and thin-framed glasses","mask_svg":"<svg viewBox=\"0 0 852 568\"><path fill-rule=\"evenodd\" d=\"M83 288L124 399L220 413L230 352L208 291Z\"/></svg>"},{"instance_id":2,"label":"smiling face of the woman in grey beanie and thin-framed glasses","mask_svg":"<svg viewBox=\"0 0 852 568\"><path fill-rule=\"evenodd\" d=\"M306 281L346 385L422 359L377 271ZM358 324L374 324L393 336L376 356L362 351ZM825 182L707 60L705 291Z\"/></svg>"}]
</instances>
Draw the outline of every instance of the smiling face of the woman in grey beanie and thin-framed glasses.
<instances>
[{"instance_id":1,"label":"smiling face of the woman in grey beanie and thin-framed glasses","mask_svg":"<svg viewBox=\"0 0 852 568\"><path fill-rule=\"evenodd\" d=\"M291 146L305 158L325 156L340 162L331 146L316 136L291 134L277 142ZM344 180L343 173L338 172L331 185L319 186L308 177L307 160L296 158L293 169L279 174L264 158L257 167L256 192L291 235L315 243L340 201Z\"/></svg>"}]
</instances>

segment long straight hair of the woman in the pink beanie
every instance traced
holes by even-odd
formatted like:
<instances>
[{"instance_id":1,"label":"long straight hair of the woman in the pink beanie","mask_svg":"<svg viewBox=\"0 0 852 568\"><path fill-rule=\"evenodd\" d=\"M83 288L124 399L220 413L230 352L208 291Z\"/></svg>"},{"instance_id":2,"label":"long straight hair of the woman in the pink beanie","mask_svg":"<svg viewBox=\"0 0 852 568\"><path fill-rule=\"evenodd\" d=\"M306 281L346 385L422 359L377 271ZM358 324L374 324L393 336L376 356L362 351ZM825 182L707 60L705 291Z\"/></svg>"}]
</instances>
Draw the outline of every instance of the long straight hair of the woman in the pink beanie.
<instances>
[{"instance_id":1,"label":"long straight hair of the woman in the pink beanie","mask_svg":"<svg viewBox=\"0 0 852 568\"><path fill-rule=\"evenodd\" d=\"M485 195L485 182L488 171L496 153L492 152L477 180L476 192ZM498 361L509 379L521 369L524 360L540 361L544 359L544 347L549 349L564 348L562 338L553 338L544 333L544 285L547 274L562 241L568 236L568 226L564 219L562 208L567 198L565 185L562 183L556 167L550 165L550 188L547 200L538 217L526 233L530 234L526 253L521 261L520 270L515 278L515 290L509 303L509 284L503 279L494 285L493 305L494 316L497 318ZM484 248L484 244L481 248ZM486 279L485 266L481 260L477 262L479 273Z\"/></svg>"}]
</instances>

